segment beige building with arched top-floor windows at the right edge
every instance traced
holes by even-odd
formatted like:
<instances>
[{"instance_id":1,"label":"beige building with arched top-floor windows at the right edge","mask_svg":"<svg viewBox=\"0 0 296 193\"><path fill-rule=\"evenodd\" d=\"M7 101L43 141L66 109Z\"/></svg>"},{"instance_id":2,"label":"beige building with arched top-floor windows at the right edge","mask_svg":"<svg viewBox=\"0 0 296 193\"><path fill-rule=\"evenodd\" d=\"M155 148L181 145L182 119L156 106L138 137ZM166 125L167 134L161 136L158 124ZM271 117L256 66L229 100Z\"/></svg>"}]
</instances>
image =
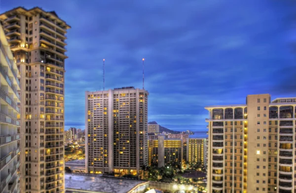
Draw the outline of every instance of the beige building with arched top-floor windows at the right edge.
<instances>
[{"instance_id":1,"label":"beige building with arched top-floor windows at the right edge","mask_svg":"<svg viewBox=\"0 0 296 193\"><path fill-rule=\"evenodd\" d=\"M296 97L207 106L210 193L294 193Z\"/></svg>"}]
</instances>

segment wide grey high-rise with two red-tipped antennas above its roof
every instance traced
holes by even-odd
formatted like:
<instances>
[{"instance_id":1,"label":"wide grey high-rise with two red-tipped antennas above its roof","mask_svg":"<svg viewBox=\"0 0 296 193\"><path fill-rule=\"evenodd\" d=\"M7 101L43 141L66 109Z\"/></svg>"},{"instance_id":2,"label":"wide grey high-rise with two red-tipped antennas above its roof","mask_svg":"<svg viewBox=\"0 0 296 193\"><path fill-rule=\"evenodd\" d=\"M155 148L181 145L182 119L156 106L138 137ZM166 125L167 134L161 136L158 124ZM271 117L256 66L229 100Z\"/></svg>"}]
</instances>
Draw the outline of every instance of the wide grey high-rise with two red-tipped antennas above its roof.
<instances>
[{"instance_id":1,"label":"wide grey high-rise with two red-tipped antennas above its roof","mask_svg":"<svg viewBox=\"0 0 296 193\"><path fill-rule=\"evenodd\" d=\"M137 174L148 164L148 92L134 87L85 93L87 173Z\"/></svg>"}]
</instances>

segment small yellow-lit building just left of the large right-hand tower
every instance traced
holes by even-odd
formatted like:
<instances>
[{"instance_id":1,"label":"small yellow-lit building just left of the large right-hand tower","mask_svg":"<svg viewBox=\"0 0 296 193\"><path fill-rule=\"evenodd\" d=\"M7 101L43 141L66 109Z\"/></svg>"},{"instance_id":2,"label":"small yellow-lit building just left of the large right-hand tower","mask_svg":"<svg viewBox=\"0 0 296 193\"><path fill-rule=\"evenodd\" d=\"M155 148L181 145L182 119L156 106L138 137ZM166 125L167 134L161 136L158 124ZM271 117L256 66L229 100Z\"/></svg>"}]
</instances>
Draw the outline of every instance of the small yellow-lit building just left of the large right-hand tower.
<instances>
[{"instance_id":1,"label":"small yellow-lit building just left of the large right-hand tower","mask_svg":"<svg viewBox=\"0 0 296 193\"><path fill-rule=\"evenodd\" d=\"M196 163L198 161L201 161L201 163L204 164L205 158L207 157L207 155L205 154L206 139L187 138L186 145L186 161L188 161L189 163Z\"/></svg>"}]
</instances>

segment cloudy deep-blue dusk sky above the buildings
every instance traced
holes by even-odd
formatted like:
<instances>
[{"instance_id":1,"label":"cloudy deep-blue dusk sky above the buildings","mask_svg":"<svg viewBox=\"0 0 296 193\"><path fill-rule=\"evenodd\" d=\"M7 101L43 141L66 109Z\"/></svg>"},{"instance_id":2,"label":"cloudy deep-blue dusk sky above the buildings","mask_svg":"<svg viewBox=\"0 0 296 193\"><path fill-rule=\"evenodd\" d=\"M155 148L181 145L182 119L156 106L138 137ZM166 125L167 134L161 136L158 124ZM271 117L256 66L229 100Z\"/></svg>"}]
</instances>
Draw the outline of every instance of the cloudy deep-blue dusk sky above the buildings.
<instances>
[{"instance_id":1,"label":"cloudy deep-blue dusk sky above the buildings","mask_svg":"<svg viewBox=\"0 0 296 193\"><path fill-rule=\"evenodd\" d=\"M206 130L208 105L296 96L295 0L0 0L55 11L68 31L65 129L84 129L85 91L145 89L148 121Z\"/></svg>"}]
</instances>

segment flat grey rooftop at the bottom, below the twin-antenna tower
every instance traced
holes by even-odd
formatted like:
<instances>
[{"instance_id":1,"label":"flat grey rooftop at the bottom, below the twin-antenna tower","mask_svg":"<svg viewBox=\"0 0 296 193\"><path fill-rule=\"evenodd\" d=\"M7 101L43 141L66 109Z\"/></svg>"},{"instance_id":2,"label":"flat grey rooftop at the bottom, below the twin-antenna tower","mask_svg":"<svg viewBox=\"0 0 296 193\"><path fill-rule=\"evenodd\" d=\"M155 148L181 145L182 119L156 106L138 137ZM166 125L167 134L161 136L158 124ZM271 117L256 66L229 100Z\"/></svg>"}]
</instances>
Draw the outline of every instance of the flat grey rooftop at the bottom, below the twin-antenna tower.
<instances>
[{"instance_id":1,"label":"flat grey rooftop at the bottom, below the twin-antenna tower","mask_svg":"<svg viewBox=\"0 0 296 193\"><path fill-rule=\"evenodd\" d=\"M127 193L138 184L145 181L105 178L102 175L67 174L65 173L65 188L86 190L100 193Z\"/></svg>"}]
</instances>

